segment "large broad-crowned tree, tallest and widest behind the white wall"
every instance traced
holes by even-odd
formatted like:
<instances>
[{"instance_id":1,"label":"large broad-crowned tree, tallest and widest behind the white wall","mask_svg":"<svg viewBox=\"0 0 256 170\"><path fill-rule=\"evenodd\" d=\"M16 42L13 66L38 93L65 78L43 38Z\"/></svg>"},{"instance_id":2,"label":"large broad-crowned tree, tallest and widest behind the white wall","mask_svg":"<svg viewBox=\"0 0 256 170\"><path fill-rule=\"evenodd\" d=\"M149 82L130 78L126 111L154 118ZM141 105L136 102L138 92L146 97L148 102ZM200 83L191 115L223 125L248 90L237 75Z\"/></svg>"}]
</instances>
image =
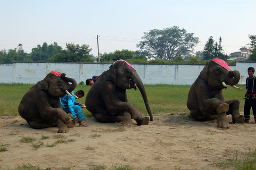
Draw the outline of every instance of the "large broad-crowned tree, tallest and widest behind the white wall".
<instances>
[{"instance_id":1,"label":"large broad-crowned tree, tallest and widest behind the white wall","mask_svg":"<svg viewBox=\"0 0 256 170\"><path fill-rule=\"evenodd\" d=\"M150 30L142 37L145 41L137 44L148 59L177 59L179 56L188 57L199 42L194 33L187 33L178 26L162 30Z\"/></svg>"}]
</instances>

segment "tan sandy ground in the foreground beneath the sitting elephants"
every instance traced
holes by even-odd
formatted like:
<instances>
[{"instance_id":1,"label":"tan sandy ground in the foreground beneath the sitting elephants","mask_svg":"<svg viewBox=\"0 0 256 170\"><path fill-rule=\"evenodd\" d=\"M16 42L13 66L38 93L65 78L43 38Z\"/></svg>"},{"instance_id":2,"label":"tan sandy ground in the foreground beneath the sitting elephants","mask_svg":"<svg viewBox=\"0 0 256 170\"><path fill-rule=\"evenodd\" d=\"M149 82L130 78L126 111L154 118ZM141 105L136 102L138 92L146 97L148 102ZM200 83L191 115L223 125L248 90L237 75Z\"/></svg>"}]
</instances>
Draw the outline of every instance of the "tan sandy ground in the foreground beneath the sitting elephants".
<instances>
[{"instance_id":1,"label":"tan sandy ground in the foreground beneath the sitting elephants","mask_svg":"<svg viewBox=\"0 0 256 170\"><path fill-rule=\"evenodd\" d=\"M231 121L231 117L228 117ZM62 134L66 143L57 143L57 127L32 129L21 117L0 119L0 170L30 163L49 170L89 170L95 165L128 164L154 170L221 170L213 161L226 159L235 152L255 149L256 124L230 124L216 127L216 121L197 122L187 115L154 116L149 125L123 127L120 123L99 123L93 117L89 127L71 128ZM15 135L16 134L16 135ZM49 136L48 139L42 139ZM22 137L34 137L22 143ZM35 149L32 144L41 147Z\"/></svg>"}]
</instances>

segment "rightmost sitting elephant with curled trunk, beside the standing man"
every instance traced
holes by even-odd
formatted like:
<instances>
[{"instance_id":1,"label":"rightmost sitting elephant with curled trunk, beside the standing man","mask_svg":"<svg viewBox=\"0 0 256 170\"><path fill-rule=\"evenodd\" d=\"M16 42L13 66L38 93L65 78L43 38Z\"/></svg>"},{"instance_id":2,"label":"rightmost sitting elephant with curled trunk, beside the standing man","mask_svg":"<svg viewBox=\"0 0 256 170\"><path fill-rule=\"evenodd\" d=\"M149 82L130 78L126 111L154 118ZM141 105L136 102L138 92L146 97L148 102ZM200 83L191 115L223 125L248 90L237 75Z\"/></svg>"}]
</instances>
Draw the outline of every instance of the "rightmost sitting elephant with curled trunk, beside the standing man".
<instances>
[{"instance_id":1,"label":"rightmost sitting elephant with curled trunk, beside the standing man","mask_svg":"<svg viewBox=\"0 0 256 170\"><path fill-rule=\"evenodd\" d=\"M227 115L231 114L233 123L243 123L239 101L226 101L222 93L222 89L230 85L240 90L235 86L239 79L239 71L230 71L224 60L210 60L189 90L187 107L190 117L199 121L217 119L217 127L230 128Z\"/></svg>"}]
</instances>

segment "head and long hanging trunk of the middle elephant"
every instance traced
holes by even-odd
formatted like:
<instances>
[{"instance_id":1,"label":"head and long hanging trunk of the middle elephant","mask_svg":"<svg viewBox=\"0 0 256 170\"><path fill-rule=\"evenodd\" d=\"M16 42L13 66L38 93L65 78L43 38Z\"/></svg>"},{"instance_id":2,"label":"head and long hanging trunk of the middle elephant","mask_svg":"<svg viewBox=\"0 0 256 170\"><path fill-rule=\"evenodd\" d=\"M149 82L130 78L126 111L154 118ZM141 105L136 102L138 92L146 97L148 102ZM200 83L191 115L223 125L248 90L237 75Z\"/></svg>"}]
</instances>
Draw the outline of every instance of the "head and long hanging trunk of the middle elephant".
<instances>
[{"instance_id":1,"label":"head and long hanging trunk of the middle elephant","mask_svg":"<svg viewBox=\"0 0 256 170\"><path fill-rule=\"evenodd\" d=\"M153 116L147 100L145 87L139 75L137 74L136 69L133 68L132 65L130 65L125 60L117 60L113 65L110 66L107 80L113 81L117 87L124 90L131 88L137 90L138 87L143 97L150 121L153 121Z\"/></svg>"}]
</instances>

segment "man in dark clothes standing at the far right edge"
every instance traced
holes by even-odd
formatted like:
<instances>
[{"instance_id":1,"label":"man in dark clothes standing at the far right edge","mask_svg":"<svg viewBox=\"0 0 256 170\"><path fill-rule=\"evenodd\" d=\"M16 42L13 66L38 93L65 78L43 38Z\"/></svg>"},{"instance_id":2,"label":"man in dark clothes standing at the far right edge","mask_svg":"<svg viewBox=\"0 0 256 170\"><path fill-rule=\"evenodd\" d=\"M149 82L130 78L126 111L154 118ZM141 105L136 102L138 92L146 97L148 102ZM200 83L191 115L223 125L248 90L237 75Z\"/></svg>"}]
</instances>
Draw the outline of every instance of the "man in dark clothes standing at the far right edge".
<instances>
[{"instance_id":1,"label":"man in dark clothes standing at the far right edge","mask_svg":"<svg viewBox=\"0 0 256 170\"><path fill-rule=\"evenodd\" d=\"M246 94L245 94L245 106L244 106L244 116L245 123L250 120L250 110L252 108L254 120L256 122L256 77L254 76L255 69L249 67L247 69L248 76L246 79Z\"/></svg>"}]
</instances>

